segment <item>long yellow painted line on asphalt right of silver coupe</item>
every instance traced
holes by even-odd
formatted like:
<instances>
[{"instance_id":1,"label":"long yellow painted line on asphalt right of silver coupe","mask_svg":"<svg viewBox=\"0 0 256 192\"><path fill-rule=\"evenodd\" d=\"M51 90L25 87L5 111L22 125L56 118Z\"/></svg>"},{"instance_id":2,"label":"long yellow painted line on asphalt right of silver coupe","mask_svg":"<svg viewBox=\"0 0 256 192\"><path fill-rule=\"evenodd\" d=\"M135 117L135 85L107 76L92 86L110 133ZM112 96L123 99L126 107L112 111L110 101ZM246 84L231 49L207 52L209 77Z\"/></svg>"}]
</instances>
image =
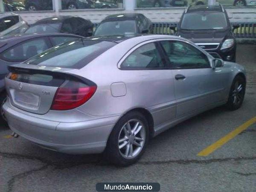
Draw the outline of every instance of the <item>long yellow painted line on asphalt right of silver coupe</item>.
<instances>
[{"instance_id":1,"label":"long yellow painted line on asphalt right of silver coupe","mask_svg":"<svg viewBox=\"0 0 256 192\"><path fill-rule=\"evenodd\" d=\"M227 143L229 140L231 140L234 137L236 137L236 135L238 135L239 133L241 133L242 131L244 131L248 127L250 127L250 125L253 125L253 123L255 123L255 122L256 122L256 116L253 117L252 119L248 120L247 122L245 122L243 125L240 125L234 131L231 131L229 134L227 134L226 136L222 137L220 140L216 141L212 145L209 145L207 148L205 148L204 150L200 151L197 155L198 156L204 156L204 157L208 156L213 151L215 151L216 149L220 148L222 145Z\"/></svg>"}]
</instances>

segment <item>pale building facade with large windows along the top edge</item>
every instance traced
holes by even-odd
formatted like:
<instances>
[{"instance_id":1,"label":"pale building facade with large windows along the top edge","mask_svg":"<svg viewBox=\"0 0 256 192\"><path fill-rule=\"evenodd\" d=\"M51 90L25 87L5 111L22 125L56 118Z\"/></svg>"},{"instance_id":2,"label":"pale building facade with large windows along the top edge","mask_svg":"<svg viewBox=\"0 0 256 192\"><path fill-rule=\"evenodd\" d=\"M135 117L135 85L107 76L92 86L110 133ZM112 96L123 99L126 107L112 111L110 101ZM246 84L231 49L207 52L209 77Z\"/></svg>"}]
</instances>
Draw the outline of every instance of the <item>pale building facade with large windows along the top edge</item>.
<instances>
[{"instance_id":1,"label":"pale building facade with large windows along the top edge","mask_svg":"<svg viewBox=\"0 0 256 192\"><path fill-rule=\"evenodd\" d=\"M0 0L1 12L17 12L28 23L73 15L99 23L116 13L143 13L153 22L178 22L189 5L221 3L231 22L256 22L256 0Z\"/></svg>"}]
</instances>

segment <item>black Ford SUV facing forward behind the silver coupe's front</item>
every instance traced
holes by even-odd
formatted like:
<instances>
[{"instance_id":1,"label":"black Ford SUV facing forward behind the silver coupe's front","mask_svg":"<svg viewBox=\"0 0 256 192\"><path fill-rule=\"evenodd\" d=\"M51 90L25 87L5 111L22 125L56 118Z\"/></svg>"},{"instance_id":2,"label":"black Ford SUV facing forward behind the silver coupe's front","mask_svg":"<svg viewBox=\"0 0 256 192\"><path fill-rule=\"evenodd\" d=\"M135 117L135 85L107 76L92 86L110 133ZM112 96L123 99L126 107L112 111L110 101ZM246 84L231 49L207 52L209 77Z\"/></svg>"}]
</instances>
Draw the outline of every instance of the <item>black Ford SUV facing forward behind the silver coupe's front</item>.
<instances>
[{"instance_id":1,"label":"black Ford SUV facing forward behind the silver coupe's front","mask_svg":"<svg viewBox=\"0 0 256 192\"><path fill-rule=\"evenodd\" d=\"M236 61L236 39L223 6L189 6L177 26L176 35L189 39L215 58ZM171 29L175 30L174 26Z\"/></svg>"}]
</instances>

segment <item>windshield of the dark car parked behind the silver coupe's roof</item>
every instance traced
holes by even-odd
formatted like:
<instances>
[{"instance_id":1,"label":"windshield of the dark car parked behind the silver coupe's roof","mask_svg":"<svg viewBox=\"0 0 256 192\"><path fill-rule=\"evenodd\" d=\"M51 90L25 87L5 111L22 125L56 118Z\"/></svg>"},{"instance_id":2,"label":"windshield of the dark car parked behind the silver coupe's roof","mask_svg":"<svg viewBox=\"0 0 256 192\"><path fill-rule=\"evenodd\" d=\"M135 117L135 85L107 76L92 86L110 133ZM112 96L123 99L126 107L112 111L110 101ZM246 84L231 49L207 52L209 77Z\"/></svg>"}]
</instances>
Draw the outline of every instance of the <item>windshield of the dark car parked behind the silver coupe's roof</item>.
<instances>
[{"instance_id":1,"label":"windshield of the dark car parked behind the silver coupe's roof","mask_svg":"<svg viewBox=\"0 0 256 192\"><path fill-rule=\"evenodd\" d=\"M136 33L135 20L107 21L101 23L94 35L120 35L125 33Z\"/></svg>"}]
</instances>

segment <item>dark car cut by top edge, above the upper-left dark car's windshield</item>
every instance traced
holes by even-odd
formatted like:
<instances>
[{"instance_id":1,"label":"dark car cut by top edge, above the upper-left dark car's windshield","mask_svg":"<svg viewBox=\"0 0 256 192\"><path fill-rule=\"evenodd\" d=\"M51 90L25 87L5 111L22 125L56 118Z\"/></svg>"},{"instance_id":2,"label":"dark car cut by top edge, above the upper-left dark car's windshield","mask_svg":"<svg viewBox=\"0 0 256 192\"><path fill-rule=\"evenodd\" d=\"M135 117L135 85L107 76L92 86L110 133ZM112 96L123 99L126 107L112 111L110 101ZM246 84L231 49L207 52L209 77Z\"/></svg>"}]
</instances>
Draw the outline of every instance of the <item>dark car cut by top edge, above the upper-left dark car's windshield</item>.
<instances>
[{"instance_id":1,"label":"dark car cut by top edge, above the upper-left dark car's windshield","mask_svg":"<svg viewBox=\"0 0 256 192\"><path fill-rule=\"evenodd\" d=\"M25 0L24 4L28 11L52 10L52 0Z\"/></svg>"}]
</instances>

